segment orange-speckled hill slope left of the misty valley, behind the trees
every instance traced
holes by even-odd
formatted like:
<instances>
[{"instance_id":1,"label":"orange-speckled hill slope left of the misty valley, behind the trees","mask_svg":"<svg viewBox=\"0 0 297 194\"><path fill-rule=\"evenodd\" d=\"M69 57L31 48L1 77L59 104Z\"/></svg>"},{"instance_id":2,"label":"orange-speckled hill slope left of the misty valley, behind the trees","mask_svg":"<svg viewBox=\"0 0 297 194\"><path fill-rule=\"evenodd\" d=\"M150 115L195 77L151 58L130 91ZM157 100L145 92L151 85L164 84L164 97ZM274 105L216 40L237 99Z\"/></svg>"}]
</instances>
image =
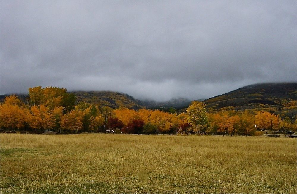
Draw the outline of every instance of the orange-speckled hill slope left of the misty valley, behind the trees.
<instances>
[{"instance_id":1,"label":"orange-speckled hill slope left of the misty valley, behind the trees","mask_svg":"<svg viewBox=\"0 0 297 194\"><path fill-rule=\"evenodd\" d=\"M124 93L110 92L110 91L76 91L71 92L76 95L77 103L82 101L87 103L101 104L102 106L109 106L112 108L126 107L129 109L141 109L140 101L134 99L132 96Z\"/></svg>"}]
</instances>

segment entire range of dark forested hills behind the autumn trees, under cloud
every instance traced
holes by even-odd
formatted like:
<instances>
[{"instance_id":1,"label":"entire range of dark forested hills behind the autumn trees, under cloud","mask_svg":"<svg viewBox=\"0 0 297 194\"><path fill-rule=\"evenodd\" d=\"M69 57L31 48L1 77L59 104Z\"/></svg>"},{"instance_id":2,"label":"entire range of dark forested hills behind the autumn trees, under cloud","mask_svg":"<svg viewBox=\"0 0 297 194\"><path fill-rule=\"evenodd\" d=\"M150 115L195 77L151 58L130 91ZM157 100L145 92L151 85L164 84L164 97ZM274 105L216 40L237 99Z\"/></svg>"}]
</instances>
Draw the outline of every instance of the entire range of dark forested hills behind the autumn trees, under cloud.
<instances>
[{"instance_id":1,"label":"entire range of dark forested hills behind the autumn trees, under cloud","mask_svg":"<svg viewBox=\"0 0 297 194\"><path fill-rule=\"evenodd\" d=\"M165 102L152 100L138 100L132 96L114 91L71 91L76 95L77 104L81 101L87 103L101 104L112 108L126 107L129 109L185 109L191 103L187 98L173 98ZM0 101L5 96L1 95ZM17 94L21 100L26 102L28 95ZM297 99L297 83L257 83L247 85L236 90L213 96L203 102L207 109L219 110L225 107L234 107L236 110L252 109L256 107L281 109L287 106L291 100ZM201 100L200 100L201 101ZM263 107L262 107L263 108Z\"/></svg>"}]
</instances>

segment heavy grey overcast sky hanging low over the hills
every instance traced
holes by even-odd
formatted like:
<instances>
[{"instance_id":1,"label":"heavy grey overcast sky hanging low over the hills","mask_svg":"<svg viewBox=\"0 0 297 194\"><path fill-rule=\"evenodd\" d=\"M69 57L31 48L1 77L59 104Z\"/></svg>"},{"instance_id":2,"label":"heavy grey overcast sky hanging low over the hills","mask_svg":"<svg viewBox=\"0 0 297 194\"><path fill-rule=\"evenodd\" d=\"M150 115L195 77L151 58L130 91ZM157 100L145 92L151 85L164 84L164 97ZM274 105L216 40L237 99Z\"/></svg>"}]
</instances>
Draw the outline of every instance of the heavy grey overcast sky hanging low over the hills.
<instances>
[{"instance_id":1,"label":"heavy grey overcast sky hanging low over the hills","mask_svg":"<svg viewBox=\"0 0 297 194\"><path fill-rule=\"evenodd\" d=\"M1 0L0 93L111 90L158 101L296 82L296 0Z\"/></svg>"}]
</instances>

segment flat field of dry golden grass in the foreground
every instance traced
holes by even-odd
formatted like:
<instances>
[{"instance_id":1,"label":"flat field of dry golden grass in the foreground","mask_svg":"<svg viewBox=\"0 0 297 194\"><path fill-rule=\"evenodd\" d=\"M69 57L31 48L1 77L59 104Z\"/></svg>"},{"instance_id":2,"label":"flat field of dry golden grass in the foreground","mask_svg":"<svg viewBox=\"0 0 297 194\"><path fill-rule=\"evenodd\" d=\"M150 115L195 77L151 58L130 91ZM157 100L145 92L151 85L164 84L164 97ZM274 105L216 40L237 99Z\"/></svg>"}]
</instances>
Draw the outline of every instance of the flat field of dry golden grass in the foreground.
<instances>
[{"instance_id":1,"label":"flat field of dry golden grass in the foreground","mask_svg":"<svg viewBox=\"0 0 297 194\"><path fill-rule=\"evenodd\" d=\"M296 139L1 134L1 193L296 193Z\"/></svg>"}]
</instances>

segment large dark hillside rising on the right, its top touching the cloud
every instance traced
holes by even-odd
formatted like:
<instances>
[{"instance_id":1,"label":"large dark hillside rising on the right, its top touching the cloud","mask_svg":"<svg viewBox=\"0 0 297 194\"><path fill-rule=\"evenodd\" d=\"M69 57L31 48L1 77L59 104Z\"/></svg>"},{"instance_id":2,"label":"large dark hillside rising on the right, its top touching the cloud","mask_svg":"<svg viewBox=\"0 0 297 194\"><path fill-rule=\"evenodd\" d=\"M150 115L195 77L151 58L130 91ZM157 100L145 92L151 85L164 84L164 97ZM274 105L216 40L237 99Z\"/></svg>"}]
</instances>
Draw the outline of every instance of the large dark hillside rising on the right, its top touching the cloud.
<instances>
[{"instance_id":1,"label":"large dark hillside rising on the right, its top touching the cloud","mask_svg":"<svg viewBox=\"0 0 297 194\"><path fill-rule=\"evenodd\" d=\"M297 83L261 83L248 85L203 101L207 108L235 109L274 108L282 109L296 101ZM289 105L288 105L289 103Z\"/></svg>"}]
</instances>

